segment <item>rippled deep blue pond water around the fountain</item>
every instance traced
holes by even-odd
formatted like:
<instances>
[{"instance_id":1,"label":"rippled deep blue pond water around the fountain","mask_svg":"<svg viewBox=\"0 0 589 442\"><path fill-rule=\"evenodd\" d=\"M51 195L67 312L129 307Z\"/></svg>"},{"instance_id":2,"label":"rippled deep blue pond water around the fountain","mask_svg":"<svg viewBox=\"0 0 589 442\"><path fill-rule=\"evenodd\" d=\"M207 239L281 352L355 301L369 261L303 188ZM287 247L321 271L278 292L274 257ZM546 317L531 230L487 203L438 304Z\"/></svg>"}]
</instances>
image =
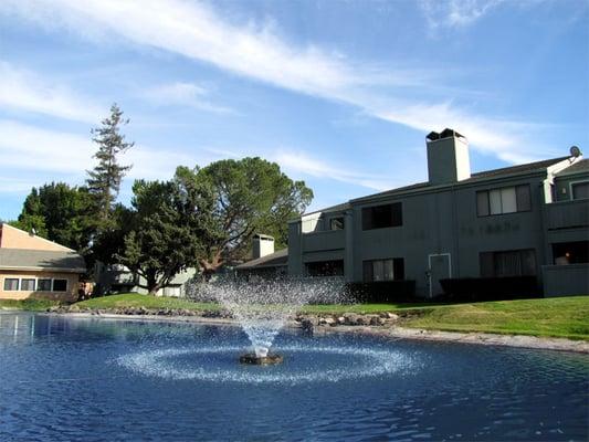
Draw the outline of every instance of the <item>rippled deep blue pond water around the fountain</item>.
<instances>
[{"instance_id":1,"label":"rippled deep blue pond water around the fountain","mask_svg":"<svg viewBox=\"0 0 589 442\"><path fill-rule=\"evenodd\" d=\"M0 314L1 441L586 441L589 357Z\"/></svg>"}]
</instances>

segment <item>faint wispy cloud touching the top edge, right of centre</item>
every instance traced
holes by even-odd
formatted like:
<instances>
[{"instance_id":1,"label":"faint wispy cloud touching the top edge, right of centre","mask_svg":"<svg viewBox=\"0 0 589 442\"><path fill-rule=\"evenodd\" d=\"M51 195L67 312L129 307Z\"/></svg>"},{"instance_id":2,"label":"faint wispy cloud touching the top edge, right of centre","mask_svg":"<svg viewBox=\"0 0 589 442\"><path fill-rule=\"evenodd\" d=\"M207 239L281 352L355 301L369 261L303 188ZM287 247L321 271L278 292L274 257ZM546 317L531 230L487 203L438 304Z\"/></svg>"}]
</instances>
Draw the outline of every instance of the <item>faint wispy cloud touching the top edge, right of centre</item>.
<instances>
[{"instance_id":1,"label":"faint wispy cloud touching the top edge, right of centre","mask_svg":"<svg viewBox=\"0 0 589 442\"><path fill-rule=\"evenodd\" d=\"M467 27L502 4L504 0L421 0L428 24L438 28Z\"/></svg>"}]
</instances>

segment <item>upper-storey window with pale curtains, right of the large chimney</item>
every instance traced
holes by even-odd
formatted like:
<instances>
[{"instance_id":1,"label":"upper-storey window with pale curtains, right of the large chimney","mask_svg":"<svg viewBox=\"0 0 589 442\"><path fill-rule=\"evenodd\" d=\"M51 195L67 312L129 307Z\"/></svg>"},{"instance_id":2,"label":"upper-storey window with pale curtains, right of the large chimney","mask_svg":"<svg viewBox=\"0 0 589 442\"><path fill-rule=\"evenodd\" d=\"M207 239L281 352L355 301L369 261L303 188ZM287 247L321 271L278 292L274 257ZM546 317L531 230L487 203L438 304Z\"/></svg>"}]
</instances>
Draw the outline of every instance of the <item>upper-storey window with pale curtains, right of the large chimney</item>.
<instances>
[{"instance_id":1,"label":"upper-storey window with pale curtains, right of the large chimney","mask_svg":"<svg viewBox=\"0 0 589 442\"><path fill-rule=\"evenodd\" d=\"M529 185L476 192L476 214L478 217L526 212L528 210L532 210Z\"/></svg>"}]
</instances>

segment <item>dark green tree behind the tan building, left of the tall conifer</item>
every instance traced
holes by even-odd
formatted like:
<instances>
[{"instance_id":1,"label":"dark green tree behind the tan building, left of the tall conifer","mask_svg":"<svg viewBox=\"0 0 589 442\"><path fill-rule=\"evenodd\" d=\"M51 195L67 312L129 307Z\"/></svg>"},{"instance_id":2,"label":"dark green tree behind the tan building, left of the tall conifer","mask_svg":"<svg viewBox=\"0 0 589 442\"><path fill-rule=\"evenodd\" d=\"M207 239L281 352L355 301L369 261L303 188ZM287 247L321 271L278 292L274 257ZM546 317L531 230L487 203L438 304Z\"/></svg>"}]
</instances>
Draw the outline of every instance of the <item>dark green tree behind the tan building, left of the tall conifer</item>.
<instances>
[{"instance_id":1,"label":"dark green tree behind the tan building, left of the tall conifer","mask_svg":"<svg viewBox=\"0 0 589 442\"><path fill-rule=\"evenodd\" d=\"M86 251L94 230L91 196L85 187L51 182L33 188L14 227L77 250Z\"/></svg>"}]
</instances>

